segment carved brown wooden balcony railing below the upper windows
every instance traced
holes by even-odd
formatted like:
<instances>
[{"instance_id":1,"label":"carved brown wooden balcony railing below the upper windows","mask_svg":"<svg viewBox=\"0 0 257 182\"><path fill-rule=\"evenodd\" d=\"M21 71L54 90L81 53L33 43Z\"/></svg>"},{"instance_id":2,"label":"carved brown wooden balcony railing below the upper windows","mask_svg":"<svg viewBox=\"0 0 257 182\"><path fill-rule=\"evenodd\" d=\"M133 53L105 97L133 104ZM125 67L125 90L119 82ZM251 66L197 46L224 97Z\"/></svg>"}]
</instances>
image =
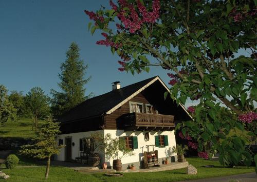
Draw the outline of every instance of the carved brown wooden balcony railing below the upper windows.
<instances>
[{"instance_id":1,"label":"carved brown wooden balcony railing below the upper windows","mask_svg":"<svg viewBox=\"0 0 257 182\"><path fill-rule=\"evenodd\" d=\"M125 127L175 127L174 116L149 113L128 113L123 115Z\"/></svg>"}]
</instances>

